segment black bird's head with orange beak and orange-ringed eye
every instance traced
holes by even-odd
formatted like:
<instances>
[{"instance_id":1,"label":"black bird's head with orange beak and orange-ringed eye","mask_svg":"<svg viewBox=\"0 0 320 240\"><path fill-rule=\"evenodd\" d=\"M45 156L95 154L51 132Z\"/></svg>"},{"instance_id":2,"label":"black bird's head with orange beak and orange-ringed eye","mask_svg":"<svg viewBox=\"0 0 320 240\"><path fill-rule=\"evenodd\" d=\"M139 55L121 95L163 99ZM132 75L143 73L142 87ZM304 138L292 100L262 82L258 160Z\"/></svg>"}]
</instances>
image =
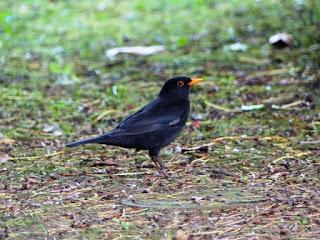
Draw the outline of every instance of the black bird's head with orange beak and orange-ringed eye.
<instances>
[{"instance_id":1,"label":"black bird's head with orange beak and orange-ringed eye","mask_svg":"<svg viewBox=\"0 0 320 240\"><path fill-rule=\"evenodd\" d=\"M165 99L188 99L190 87L202 82L202 78L174 77L163 85L159 96Z\"/></svg>"}]
</instances>

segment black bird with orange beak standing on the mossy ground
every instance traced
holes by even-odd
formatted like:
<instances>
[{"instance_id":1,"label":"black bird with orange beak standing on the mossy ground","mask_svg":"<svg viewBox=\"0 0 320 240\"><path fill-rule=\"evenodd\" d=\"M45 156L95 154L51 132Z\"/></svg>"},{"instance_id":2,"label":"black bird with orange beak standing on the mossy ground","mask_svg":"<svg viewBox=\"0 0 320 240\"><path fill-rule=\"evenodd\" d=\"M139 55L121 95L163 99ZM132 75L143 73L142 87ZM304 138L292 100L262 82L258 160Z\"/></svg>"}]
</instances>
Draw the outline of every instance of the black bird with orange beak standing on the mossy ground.
<instances>
[{"instance_id":1,"label":"black bird with orange beak standing on the mossy ground","mask_svg":"<svg viewBox=\"0 0 320 240\"><path fill-rule=\"evenodd\" d=\"M201 78L171 78L165 82L156 99L124 119L110 132L66 146L100 143L148 150L156 167L165 173L159 152L172 142L185 126L190 111L189 89L201 81Z\"/></svg>"}]
</instances>

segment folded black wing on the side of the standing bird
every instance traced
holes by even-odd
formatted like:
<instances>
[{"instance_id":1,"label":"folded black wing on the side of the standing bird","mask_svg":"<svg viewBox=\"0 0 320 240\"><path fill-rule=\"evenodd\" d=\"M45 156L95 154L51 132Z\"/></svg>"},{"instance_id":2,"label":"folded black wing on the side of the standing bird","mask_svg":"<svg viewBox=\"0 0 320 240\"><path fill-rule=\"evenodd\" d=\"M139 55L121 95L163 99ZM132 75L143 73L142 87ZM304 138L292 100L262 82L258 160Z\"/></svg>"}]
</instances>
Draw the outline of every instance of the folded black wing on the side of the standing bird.
<instances>
[{"instance_id":1,"label":"folded black wing on the side of the standing bird","mask_svg":"<svg viewBox=\"0 0 320 240\"><path fill-rule=\"evenodd\" d=\"M110 136L128 136L162 130L179 124L183 114L184 111L180 109L165 112L153 101L119 123L110 132Z\"/></svg>"}]
</instances>

